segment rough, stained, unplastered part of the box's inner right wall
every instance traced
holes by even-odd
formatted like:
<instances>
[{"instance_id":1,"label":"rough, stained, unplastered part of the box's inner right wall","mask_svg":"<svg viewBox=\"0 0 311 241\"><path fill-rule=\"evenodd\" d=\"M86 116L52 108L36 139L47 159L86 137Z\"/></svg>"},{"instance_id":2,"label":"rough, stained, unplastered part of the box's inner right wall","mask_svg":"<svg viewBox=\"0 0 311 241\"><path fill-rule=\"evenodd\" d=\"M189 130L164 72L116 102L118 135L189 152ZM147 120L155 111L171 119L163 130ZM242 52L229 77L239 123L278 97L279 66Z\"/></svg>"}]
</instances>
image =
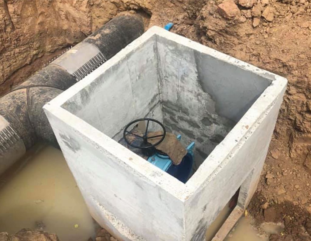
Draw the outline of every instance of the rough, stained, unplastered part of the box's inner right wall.
<instances>
[{"instance_id":1,"label":"rough, stained, unplastered part of the box's inner right wall","mask_svg":"<svg viewBox=\"0 0 311 241\"><path fill-rule=\"evenodd\" d=\"M163 121L182 135L184 146L195 141L195 172L235 122L218 115L216 101L203 90L195 51L160 36L156 41Z\"/></svg>"}]
</instances>

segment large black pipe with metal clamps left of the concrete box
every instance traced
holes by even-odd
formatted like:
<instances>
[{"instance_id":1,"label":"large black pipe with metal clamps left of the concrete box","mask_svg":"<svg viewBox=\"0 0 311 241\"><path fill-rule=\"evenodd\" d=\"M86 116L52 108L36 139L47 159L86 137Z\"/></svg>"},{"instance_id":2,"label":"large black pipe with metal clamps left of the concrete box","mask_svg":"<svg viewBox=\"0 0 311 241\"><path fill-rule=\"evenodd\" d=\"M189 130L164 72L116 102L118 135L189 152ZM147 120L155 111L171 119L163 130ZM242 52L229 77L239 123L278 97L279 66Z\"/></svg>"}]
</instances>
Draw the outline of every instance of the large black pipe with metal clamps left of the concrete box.
<instances>
[{"instance_id":1,"label":"large black pipe with metal clamps left of the concrete box","mask_svg":"<svg viewBox=\"0 0 311 241\"><path fill-rule=\"evenodd\" d=\"M58 146L42 107L144 32L138 16L120 16L0 99L0 174L37 141Z\"/></svg>"}]
</instances>

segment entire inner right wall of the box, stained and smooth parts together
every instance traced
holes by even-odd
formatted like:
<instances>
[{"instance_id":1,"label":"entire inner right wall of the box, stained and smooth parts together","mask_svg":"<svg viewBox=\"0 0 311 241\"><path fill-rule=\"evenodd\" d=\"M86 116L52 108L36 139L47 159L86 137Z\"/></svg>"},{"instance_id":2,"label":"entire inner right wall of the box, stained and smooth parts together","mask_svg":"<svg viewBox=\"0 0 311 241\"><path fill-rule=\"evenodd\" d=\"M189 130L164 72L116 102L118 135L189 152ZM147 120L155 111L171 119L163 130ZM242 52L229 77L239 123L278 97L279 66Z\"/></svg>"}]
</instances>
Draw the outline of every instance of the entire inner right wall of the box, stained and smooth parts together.
<instances>
[{"instance_id":1,"label":"entire inner right wall of the box, stained and smooth parts together","mask_svg":"<svg viewBox=\"0 0 311 241\"><path fill-rule=\"evenodd\" d=\"M196 170L271 80L157 36L165 126L196 141Z\"/></svg>"}]
</instances>

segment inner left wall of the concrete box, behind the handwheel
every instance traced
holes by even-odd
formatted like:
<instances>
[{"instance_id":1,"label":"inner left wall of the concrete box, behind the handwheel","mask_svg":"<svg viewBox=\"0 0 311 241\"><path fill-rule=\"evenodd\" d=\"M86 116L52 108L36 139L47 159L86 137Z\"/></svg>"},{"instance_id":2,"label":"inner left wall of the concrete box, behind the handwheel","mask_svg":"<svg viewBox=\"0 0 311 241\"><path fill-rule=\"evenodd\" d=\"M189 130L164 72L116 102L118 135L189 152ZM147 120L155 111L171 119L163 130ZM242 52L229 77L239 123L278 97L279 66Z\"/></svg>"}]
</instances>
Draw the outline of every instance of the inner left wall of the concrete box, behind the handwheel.
<instances>
[{"instance_id":1,"label":"inner left wall of the concrete box, behind the handwheel","mask_svg":"<svg viewBox=\"0 0 311 241\"><path fill-rule=\"evenodd\" d=\"M154 36L99 74L62 107L116 140L134 119L162 121L155 51Z\"/></svg>"}]
</instances>

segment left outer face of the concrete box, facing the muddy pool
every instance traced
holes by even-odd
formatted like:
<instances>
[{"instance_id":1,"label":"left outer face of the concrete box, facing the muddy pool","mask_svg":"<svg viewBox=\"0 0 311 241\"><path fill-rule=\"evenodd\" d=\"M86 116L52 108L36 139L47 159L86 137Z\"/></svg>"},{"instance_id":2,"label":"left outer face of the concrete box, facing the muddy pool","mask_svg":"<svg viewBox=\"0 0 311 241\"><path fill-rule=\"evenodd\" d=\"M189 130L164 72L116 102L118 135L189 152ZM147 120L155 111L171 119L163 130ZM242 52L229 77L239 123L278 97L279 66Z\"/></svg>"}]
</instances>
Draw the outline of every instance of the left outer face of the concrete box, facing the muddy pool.
<instances>
[{"instance_id":1,"label":"left outer face of the concrete box, facing the muddy pool","mask_svg":"<svg viewBox=\"0 0 311 241\"><path fill-rule=\"evenodd\" d=\"M178 189L182 183L87 124L78 133L72 126L83 127L83 121L67 111L58 109L63 119L45 112L77 185L101 225L119 237L125 235L124 240L183 240L183 201L160 186L164 182ZM117 150L118 157L109 149ZM105 213L113 216L109 219Z\"/></svg>"}]
</instances>

